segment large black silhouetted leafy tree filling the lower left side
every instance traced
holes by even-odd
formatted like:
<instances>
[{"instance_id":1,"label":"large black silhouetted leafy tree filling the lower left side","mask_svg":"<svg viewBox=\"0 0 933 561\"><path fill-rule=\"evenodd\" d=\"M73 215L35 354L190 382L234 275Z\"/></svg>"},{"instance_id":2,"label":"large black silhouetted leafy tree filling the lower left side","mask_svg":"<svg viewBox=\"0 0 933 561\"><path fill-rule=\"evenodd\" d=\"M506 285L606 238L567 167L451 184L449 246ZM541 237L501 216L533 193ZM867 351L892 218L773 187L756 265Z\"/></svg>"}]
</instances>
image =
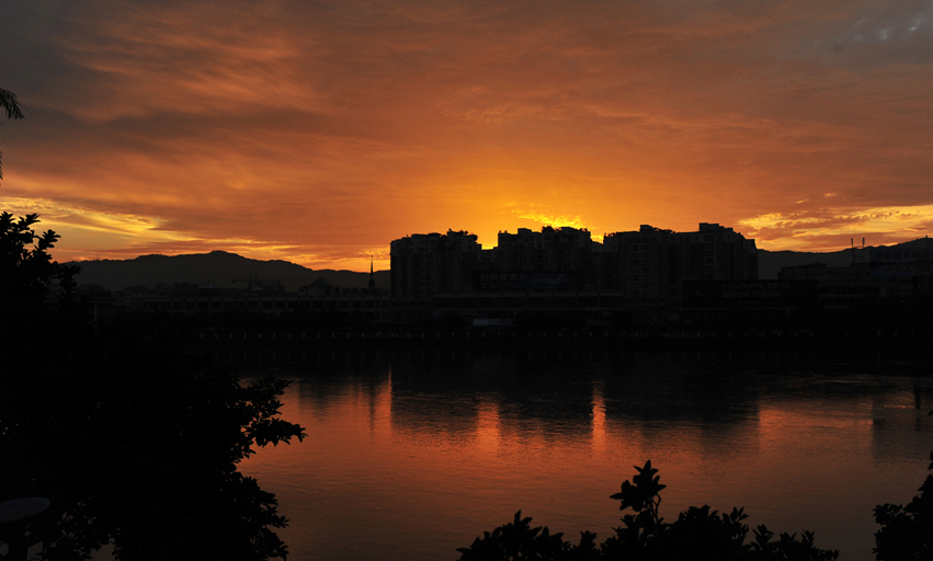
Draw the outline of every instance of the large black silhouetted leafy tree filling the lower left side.
<instances>
[{"instance_id":1,"label":"large black silhouetted leafy tree filling the lower left side","mask_svg":"<svg viewBox=\"0 0 933 561\"><path fill-rule=\"evenodd\" d=\"M105 543L125 560L284 558L274 529L287 520L238 463L305 436L280 416L286 382L240 383L186 352L171 325L92 325L67 297L75 271L48 255L58 236L37 234L37 221L0 217L12 306L0 337L0 501L52 501L37 526L44 559L87 559Z\"/></svg>"}]
</instances>

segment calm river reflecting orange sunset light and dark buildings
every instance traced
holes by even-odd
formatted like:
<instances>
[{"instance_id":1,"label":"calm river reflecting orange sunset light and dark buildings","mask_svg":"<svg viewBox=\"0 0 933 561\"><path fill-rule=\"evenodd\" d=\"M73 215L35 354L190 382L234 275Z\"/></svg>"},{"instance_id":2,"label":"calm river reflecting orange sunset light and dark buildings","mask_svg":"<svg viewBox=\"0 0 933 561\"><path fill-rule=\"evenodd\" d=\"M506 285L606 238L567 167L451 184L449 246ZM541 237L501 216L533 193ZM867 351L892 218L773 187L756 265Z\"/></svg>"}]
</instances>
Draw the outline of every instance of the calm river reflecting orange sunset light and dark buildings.
<instances>
[{"instance_id":1,"label":"calm river reflecting orange sunset light and dark buildings","mask_svg":"<svg viewBox=\"0 0 933 561\"><path fill-rule=\"evenodd\" d=\"M744 506L874 559L876 504L907 503L933 448L928 367L727 352L337 353L272 371L303 443L242 463L280 499L293 560L455 560L515 512L604 539L650 459L661 514Z\"/></svg>"}]
</instances>

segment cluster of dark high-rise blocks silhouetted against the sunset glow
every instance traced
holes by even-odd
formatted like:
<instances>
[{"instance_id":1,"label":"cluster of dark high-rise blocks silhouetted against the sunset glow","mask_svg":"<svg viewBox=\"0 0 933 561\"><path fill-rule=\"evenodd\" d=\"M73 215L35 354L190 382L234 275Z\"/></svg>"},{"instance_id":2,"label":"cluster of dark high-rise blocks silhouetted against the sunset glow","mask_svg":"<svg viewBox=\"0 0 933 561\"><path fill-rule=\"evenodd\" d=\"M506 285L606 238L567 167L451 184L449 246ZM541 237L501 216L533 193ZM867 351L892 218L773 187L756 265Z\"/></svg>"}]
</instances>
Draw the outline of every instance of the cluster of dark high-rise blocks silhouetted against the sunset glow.
<instances>
[{"instance_id":1,"label":"cluster of dark high-rise blocks silhouetted against the sunset glow","mask_svg":"<svg viewBox=\"0 0 933 561\"><path fill-rule=\"evenodd\" d=\"M502 231L491 250L482 250L476 236L453 230L391 242L394 307L409 319L510 318L525 308L600 316L626 308L647 310L646 321L662 321L681 306L684 282L756 278L754 240L717 224L701 224L695 232L646 225L606 234L602 244L589 231L567 227Z\"/></svg>"}]
</instances>

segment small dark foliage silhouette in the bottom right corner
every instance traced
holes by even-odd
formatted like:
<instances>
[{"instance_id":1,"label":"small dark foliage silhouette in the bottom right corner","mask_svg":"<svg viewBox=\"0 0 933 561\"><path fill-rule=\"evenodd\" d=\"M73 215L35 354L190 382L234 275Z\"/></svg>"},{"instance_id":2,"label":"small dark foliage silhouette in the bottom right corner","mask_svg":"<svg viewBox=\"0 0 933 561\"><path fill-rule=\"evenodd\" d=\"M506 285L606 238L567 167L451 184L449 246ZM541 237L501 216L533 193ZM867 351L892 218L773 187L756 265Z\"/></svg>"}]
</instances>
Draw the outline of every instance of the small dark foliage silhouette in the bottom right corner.
<instances>
[{"instance_id":1,"label":"small dark foliage silhouette in the bottom right corner","mask_svg":"<svg viewBox=\"0 0 933 561\"><path fill-rule=\"evenodd\" d=\"M933 411L930 412L933 415ZM930 453L933 470L933 453ZM920 494L907 505L879 504L875 522L875 554L878 561L921 561L933 559L933 476L920 485Z\"/></svg>"}]
</instances>

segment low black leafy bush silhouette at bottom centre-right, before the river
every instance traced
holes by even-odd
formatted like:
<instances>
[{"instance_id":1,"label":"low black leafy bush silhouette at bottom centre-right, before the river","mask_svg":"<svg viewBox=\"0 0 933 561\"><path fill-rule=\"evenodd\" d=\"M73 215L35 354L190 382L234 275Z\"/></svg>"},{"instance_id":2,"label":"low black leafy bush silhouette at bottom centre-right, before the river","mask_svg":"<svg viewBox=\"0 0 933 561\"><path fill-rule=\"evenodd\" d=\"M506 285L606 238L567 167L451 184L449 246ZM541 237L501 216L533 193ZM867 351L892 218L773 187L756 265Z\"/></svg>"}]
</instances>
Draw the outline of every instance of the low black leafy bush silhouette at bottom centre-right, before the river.
<instances>
[{"instance_id":1,"label":"low black leafy bush silhouette at bottom centre-right, before the river","mask_svg":"<svg viewBox=\"0 0 933 561\"><path fill-rule=\"evenodd\" d=\"M596 547L596 535L584 531L580 541L572 545L564 541L562 534L550 534L545 528L532 528L531 518L515 514L511 524L500 526L491 533L485 531L468 548L460 548L460 561L829 561L839 557L838 551L822 550L813 545L813 534L781 534L765 526L754 530L754 539L746 542L748 525L742 520L748 515L741 508L719 514L709 506L691 506L680 513L676 522L668 524L660 516L661 484L658 470L651 461L645 467L635 466L637 473L632 481L622 484L622 491L611 499L621 501L619 510L632 508L622 526Z\"/></svg>"}]
</instances>

